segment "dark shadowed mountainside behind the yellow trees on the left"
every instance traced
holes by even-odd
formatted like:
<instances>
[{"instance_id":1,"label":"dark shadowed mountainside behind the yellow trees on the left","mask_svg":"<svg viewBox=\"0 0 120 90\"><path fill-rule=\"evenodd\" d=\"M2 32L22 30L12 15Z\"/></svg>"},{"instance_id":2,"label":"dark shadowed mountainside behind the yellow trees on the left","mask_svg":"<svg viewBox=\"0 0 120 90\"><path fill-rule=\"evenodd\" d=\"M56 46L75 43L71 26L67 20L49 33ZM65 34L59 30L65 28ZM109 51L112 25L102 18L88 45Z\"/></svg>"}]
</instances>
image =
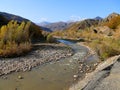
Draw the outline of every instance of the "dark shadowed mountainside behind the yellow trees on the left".
<instances>
[{"instance_id":1,"label":"dark shadowed mountainside behind the yellow trees on the left","mask_svg":"<svg viewBox=\"0 0 120 90\"><path fill-rule=\"evenodd\" d=\"M21 23L22 21L30 21L26 18L17 16L17 15L13 15L13 14L9 14L6 12L0 12L0 27L2 25L6 25L10 20L16 20L18 23ZM31 25L30 25L30 36L32 40L37 40L37 39L42 39L44 38L44 36L42 35L42 28L38 25L36 25L35 23L33 23L32 21Z\"/></svg>"}]
</instances>

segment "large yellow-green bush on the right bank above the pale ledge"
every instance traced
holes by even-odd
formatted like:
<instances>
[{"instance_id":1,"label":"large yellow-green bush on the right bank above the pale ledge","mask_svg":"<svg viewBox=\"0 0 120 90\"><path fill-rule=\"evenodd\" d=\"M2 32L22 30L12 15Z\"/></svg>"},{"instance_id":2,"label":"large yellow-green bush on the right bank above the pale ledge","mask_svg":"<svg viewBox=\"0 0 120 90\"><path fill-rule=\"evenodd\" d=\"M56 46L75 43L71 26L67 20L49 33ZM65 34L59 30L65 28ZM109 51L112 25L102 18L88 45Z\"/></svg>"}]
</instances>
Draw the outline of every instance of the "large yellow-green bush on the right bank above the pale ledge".
<instances>
[{"instance_id":1,"label":"large yellow-green bush on the right bank above the pale ledge","mask_svg":"<svg viewBox=\"0 0 120 90\"><path fill-rule=\"evenodd\" d=\"M110 37L93 40L87 45L94 49L102 60L120 54L120 42Z\"/></svg>"}]
</instances>

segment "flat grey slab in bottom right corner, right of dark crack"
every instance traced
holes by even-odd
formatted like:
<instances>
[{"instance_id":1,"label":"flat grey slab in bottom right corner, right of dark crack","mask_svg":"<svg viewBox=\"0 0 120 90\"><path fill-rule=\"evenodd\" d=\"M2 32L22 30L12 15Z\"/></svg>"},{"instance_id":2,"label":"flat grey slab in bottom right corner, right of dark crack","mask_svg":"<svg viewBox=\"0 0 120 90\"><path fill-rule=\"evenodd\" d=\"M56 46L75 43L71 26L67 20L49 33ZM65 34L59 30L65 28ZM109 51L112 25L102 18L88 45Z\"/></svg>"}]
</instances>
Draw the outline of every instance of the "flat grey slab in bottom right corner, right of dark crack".
<instances>
[{"instance_id":1,"label":"flat grey slab in bottom right corner, right of dark crack","mask_svg":"<svg viewBox=\"0 0 120 90\"><path fill-rule=\"evenodd\" d=\"M96 85L95 90L120 90L120 62L113 64L109 72L109 75Z\"/></svg>"}]
</instances>

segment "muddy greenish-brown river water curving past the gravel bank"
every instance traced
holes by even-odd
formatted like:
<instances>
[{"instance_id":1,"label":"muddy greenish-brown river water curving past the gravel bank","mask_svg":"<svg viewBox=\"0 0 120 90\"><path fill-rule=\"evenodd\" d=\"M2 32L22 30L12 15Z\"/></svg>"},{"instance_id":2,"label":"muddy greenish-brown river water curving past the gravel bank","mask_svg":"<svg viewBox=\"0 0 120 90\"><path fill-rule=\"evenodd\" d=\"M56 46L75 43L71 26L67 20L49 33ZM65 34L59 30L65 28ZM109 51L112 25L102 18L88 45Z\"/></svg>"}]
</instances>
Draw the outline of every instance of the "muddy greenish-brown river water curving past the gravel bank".
<instances>
[{"instance_id":1,"label":"muddy greenish-brown river water curving past the gravel bank","mask_svg":"<svg viewBox=\"0 0 120 90\"><path fill-rule=\"evenodd\" d=\"M75 54L57 62L50 62L29 72L18 72L0 78L0 90L68 90L78 72L78 60L84 58L88 50L70 44ZM23 79L18 79L22 76Z\"/></svg>"}]
</instances>

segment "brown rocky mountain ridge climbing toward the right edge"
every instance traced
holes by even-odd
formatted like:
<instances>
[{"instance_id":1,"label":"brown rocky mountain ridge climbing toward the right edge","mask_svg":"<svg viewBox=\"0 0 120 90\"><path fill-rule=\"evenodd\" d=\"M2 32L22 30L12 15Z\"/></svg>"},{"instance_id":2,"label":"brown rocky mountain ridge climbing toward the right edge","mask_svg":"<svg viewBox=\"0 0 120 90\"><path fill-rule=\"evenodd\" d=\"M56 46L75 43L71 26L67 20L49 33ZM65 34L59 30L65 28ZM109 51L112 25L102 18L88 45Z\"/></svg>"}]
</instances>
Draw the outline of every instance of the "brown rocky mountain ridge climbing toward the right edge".
<instances>
[{"instance_id":1,"label":"brown rocky mountain ridge climbing toward the right edge","mask_svg":"<svg viewBox=\"0 0 120 90\"><path fill-rule=\"evenodd\" d=\"M85 19L83 21L78 21L68 27L66 30L79 30L85 29L87 27L96 26L96 25L103 25L103 23L113 21L114 17L120 16L118 13L111 13L106 18L101 18L99 16L95 17L94 19ZM117 20L118 21L118 20ZM110 24L111 25L111 24Z\"/></svg>"}]
</instances>

